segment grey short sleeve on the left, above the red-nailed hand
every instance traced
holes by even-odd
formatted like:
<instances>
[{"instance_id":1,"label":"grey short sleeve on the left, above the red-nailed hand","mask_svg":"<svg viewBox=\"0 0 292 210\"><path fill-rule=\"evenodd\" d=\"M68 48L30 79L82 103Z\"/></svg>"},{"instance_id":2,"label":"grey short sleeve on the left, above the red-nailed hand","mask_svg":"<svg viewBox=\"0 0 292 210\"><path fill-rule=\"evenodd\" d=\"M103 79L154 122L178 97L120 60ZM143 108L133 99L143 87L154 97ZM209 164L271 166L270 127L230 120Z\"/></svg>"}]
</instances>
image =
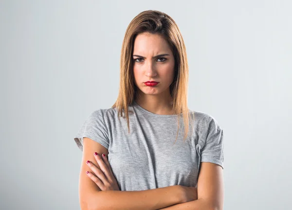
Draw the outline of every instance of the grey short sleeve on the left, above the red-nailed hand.
<instances>
[{"instance_id":1,"label":"grey short sleeve on the left, above the red-nailed hand","mask_svg":"<svg viewBox=\"0 0 292 210\"><path fill-rule=\"evenodd\" d=\"M91 112L74 137L74 140L81 151L83 151L84 137L90 138L109 149L108 132L103 121L102 109L97 109Z\"/></svg>"}]
</instances>

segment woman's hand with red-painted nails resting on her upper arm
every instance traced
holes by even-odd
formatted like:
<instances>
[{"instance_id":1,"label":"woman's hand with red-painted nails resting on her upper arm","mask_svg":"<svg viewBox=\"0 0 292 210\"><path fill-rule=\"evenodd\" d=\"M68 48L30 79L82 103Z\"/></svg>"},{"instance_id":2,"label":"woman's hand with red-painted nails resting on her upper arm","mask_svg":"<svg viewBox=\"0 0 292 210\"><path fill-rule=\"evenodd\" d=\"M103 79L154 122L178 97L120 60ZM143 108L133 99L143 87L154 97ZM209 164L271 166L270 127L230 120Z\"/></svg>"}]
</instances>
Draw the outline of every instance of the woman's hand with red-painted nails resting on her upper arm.
<instances>
[{"instance_id":1,"label":"woman's hand with red-painted nails resting on her upper arm","mask_svg":"<svg viewBox=\"0 0 292 210\"><path fill-rule=\"evenodd\" d=\"M94 174L86 172L87 175L91 178L92 181L95 182L95 184L100 188L101 191L119 191L120 189L117 180L112 174L108 158L105 155L101 157L96 152L94 153L94 158L96 159L97 164L100 168L95 166L92 162L88 160L86 163L91 168Z\"/></svg>"}]
</instances>

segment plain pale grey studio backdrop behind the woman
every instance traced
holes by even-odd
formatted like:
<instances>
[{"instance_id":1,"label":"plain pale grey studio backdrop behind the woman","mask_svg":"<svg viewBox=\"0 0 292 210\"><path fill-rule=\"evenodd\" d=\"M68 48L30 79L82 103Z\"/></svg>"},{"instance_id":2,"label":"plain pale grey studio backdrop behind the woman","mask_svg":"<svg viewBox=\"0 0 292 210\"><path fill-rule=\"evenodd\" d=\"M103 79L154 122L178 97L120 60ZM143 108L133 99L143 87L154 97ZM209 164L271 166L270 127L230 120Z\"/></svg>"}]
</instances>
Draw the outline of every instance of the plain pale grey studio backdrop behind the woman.
<instances>
[{"instance_id":1,"label":"plain pale grey studio backdrop behind the woman","mask_svg":"<svg viewBox=\"0 0 292 210\"><path fill-rule=\"evenodd\" d=\"M291 1L1 0L1 210L80 209L73 137L115 102L125 31L149 9L181 30L189 108L224 130L224 210L291 208Z\"/></svg>"}]
</instances>

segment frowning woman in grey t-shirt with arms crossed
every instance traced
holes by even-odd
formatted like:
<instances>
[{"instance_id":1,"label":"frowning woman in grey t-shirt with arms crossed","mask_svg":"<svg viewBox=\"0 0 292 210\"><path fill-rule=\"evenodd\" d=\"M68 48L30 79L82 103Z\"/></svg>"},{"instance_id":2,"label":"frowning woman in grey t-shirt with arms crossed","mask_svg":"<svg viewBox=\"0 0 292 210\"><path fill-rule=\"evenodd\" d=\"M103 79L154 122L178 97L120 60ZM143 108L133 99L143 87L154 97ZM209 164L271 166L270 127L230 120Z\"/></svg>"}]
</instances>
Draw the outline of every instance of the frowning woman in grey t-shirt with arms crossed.
<instances>
[{"instance_id":1,"label":"frowning woman in grey t-shirt with arms crossed","mask_svg":"<svg viewBox=\"0 0 292 210\"><path fill-rule=\"evenodd\" d=\"M129 24L115 104L93 111L74 140L83 151L85 209L222 209L223 130L187 107L183 37L165 13Z\"/></svg>"}]
</instances>

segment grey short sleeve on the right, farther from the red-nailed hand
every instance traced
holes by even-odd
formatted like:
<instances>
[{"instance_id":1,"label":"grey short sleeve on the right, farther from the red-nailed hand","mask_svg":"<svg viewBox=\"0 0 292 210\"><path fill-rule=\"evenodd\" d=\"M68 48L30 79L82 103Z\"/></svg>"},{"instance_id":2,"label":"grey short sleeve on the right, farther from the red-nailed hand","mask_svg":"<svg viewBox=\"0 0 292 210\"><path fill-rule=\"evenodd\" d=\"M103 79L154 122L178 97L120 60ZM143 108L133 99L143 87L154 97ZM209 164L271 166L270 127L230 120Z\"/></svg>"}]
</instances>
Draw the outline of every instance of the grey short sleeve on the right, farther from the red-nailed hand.
<instances>
[{"instance_id":1,"label":"grey short sleeve on the right, farther from the red-nailed hand","mask_svg":"<svg viewBox=\"0 0 292 210\"><path fill-rule=\"evenodd\" d=\"M213 117L209 119L211 120L207 123L206 139L201 149L201 162L216 163L223 169L223 130Z\"/></svg>"}]
</instances>

